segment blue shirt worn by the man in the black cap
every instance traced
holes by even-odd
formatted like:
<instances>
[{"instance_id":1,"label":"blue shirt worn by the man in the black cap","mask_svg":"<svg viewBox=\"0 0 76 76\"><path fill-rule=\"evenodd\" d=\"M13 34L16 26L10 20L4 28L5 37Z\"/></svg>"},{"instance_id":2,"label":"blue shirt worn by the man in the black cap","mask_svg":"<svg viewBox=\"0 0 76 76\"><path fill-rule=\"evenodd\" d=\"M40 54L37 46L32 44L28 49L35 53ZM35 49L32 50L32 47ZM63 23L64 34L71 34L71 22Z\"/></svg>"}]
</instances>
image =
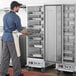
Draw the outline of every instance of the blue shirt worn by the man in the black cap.
<instances>
[{"instance_id":1,"label":"blue shirt worn by the man in the black cap","mask_svg":"<svg viewBox=\"0 0 76 76\"><path fill-rule=\"evenodd\" d=\"M10 11L4 15L3 30L3 41L14 41L12 32L15 30L20 32L22 30L20 18L15 12Z\"/></svg>"}]
</instances>

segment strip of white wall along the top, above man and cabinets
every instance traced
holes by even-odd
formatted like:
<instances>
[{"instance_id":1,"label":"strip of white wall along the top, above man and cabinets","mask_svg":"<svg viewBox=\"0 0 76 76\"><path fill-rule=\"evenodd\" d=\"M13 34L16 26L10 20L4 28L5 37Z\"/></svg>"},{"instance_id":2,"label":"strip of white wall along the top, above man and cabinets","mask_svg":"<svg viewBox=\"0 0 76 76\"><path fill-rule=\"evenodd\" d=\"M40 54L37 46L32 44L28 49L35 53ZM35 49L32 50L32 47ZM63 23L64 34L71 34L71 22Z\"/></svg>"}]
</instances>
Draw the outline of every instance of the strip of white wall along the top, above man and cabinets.
<instances>
[{"instance_id":1,"label":"strip of white wall along the top, above man and cabinets","mask_svg":"<svg viewBox=\"0 0 76 76\"><path fill-rule=\"evenodd\" d=\"M9 7L13 0L0 1L0 8ZM24 5L44 5L44 4L76 4L76 0L15 0Z\"/></svg>"}]
</instances>

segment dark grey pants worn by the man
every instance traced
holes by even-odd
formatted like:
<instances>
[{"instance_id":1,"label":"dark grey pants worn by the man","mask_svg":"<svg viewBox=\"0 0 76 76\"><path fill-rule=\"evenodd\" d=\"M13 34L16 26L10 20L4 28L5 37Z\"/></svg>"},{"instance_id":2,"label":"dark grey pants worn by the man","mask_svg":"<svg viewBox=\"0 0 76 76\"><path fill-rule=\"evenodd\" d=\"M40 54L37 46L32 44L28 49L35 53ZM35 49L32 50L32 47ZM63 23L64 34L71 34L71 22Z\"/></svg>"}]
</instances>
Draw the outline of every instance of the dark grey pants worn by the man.
<instances>
[{"instance_id":1,"label":"dark grey pants worn by the man","mask_svg":"<svg viewBox=\"0 0 76 76\"><path fill-rule=\"evenodd\" d=\"M17 57L14 42L2 42L2 60L0 68L0 76L5 76L9 68L9 61L12 58L12 64L14 69L14 76L21 74L20 58Z\"/></svg>"}]
</instances>

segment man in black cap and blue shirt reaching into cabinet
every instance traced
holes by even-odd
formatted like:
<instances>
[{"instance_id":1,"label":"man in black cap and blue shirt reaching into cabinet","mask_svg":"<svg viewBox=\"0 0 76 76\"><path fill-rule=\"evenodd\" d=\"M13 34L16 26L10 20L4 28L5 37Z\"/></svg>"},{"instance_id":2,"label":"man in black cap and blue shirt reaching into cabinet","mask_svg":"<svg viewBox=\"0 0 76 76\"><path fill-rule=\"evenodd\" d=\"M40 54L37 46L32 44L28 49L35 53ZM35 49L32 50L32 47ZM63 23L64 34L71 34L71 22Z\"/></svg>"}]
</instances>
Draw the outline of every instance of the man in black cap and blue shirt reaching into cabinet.
<instances>
[{"instance_id":1,"label":"man in black cap and blue shirt reaching into cabinet","mask_svg":"<svg viewBox=\"0 0 76 76\"><path fill-rule=\"evenodd\" d=\"M21 74L21 65L19 57L17 57L14 38L12 32L14 30L18 30L22 34L27 34L25 29L22 29L21 22L19 16L16 12L19 11L21 4L17 1L13 1L10 5L11 11L6 13L3 18L3 50L2 50L2 61L1 61L1 68L0 68L0 75L1 76L9 76L7 74L9 68L9 61L10 57L12 58L12 64L14 69L14 76L23 76Z\"/></svg>"}]
</instances>

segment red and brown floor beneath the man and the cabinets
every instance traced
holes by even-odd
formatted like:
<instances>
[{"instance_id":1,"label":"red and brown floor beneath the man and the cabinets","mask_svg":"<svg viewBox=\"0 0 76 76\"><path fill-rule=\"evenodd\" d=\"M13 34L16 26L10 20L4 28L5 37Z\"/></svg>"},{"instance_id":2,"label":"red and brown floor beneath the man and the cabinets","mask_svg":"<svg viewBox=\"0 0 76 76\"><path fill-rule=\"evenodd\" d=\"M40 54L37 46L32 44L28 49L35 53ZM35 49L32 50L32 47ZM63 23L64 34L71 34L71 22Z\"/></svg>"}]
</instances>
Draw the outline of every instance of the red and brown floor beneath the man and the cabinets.
<instances>
[{"instance_id":1,"label":"red and brown floor beneath the man and the cabinets","mask_svg":"<svg viewBox=\"0 0 76 76\"><path fill-rule=\"evenodd\" d=\"M67 72L60 72L59 75L57 75L57 71L54 67L48 67L46 68L46 71L44 73L41 72L40 69L32 69L31 71L28 71L26 68L22 68L22 72L24 76L73 76L72 73ZM9 68L10 76L13 76L13 69Z\"/></svg>"}]
</instances>

